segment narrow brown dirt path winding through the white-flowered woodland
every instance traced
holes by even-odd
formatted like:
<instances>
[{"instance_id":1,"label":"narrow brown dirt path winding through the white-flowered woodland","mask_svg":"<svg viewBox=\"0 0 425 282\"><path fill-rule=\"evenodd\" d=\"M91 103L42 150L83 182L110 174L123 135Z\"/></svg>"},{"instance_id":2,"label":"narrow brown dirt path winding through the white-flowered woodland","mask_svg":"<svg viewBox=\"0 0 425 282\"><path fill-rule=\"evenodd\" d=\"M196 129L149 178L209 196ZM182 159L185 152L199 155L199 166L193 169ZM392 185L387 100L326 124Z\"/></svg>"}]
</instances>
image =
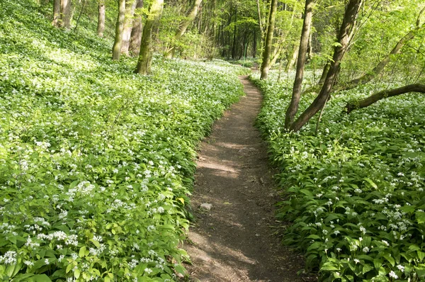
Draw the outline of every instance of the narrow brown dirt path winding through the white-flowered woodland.
<instances>
[{"instance_id":1,"label":"narrow brown dirt path winding through the white-flowered woodland","mask_svg":"<svg viewBox=\"0 0 425 282\"><path fill-rule=\"evenodd\" d=\"M246 96L215 123L198 152L192 197L196 223L185 249L192 281L304 281L302 259L280 246L271 225L272 171L254 128L261 94L240 77ZM211 210L200 208L212 204Z\"/></svg>"}]
</instances>

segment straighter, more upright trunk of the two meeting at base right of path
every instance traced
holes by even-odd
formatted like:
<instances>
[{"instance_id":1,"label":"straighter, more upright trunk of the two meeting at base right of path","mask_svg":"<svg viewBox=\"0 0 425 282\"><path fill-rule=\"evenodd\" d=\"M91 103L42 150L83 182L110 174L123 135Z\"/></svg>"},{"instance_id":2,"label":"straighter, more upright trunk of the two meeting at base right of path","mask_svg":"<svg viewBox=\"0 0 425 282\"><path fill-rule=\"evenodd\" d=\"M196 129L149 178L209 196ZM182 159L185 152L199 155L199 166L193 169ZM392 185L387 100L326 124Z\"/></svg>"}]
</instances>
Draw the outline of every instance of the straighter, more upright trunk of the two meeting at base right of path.
<instances>
[{"instance_id":1,"label":"straighter, more upright trunk of the two meeting at base right of path","mask_svg":"<svg viewBox=\"0 0 425 282\"><path fill-rule=\"evenodd\" d=\"M300 48L298 50L297 72L295 74L292 98L285 114L285 128L290 128L290 125L293 124L294 117L298 111L298 105L300 103L305 57L307 55L308 40L310 38L310 30L312 27L313 4L314 0L305 1L304 21L302 23Z\"/></svg>"}]
</instances>

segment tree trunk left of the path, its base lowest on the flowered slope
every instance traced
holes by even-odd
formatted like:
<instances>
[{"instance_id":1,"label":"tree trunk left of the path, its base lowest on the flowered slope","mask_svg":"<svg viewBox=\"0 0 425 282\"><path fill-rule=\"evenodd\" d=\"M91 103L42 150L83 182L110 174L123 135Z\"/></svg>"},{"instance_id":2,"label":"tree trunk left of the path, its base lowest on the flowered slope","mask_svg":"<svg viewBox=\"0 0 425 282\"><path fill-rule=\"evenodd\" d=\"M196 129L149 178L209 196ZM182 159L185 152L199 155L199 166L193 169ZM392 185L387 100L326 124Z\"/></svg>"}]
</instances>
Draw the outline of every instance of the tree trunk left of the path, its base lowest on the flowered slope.
<instances>
[{"instance_id":1,"label":"tree trunk left of the path, its base lowest on the flowered slope","mask_svg":"<svg viewBox=\"0 0 425 282\"><path fill-rule=\"evenodd\" d=\"M135 69L137 74L148 74L150 71L150 64L152 61L152 30L159 21L159 18L161 18L163 4L164 0L154 0L149 9L149 15L147 16L145 27L143 28L139 59Z\"/></svg>"}]
</instances>

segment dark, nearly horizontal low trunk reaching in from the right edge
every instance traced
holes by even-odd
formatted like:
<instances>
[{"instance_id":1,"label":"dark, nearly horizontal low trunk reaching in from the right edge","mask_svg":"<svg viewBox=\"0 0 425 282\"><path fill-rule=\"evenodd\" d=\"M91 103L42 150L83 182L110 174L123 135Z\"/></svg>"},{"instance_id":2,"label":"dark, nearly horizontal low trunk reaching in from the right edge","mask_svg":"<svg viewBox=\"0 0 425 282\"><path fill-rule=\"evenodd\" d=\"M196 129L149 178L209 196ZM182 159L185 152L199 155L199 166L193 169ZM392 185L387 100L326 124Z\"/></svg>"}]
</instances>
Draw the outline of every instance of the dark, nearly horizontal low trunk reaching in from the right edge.
<instances>
[{"instance_id":1,"label":"dark, nearly horizontal low trunk reaching in from the right edge","mask_svg":"<svg viewBox=\"0 0 425 282\"><path fill-rule=\"evenodd\" d=\"M383 98L397 96L409 92L425 93L425 84L409 84L396 89L380 91L371 96L368 96L367 98L364 98L361 101L347 103L344 112L351 113L352 111L358 110L359 108L365 108L367 106L370 106L373 103L382 100Z\"/></svg>"}]
</instances>

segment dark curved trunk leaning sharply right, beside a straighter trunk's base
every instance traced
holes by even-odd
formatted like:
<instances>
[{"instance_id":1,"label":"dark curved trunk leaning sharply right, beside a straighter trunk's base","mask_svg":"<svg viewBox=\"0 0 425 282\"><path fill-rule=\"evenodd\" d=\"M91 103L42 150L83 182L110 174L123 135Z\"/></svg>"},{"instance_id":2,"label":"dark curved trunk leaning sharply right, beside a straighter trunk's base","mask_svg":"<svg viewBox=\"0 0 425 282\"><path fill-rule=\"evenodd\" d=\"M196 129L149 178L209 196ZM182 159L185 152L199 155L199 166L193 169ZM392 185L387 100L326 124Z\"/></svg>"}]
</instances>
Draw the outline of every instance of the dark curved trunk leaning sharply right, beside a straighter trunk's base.
<instances>
[{"instance_id":1,"label":"dark curved trunk leaning sharply right, beside a straighter trunk's base","mask_svg":"<svg viewBox=\"0 0 425 282\"><path fill-rule=\"evenodd\" d=\"M343 59L348 45L353 38L353 30L356 26L358 11L360 11L362 5L363 0L350 0L348 2L344 14L344 19L342 21L341 28L339 29L339 45L334 47L334 56L332 57L332 62L329 66L329 72L327 73L327 77L324 80L322 89L311 105L300 115L299 118L297 118L297 120L295 120L292 125L290 125L289 130L295 132L300 130L300 128L302 128L302 126L305 125L305 123L307 123L310 118L312 118L318 111L320 111L327 102L331 94L332 87L334 86L336 78L338 77L341 60Z\"/></svg>"}]
</instances>

